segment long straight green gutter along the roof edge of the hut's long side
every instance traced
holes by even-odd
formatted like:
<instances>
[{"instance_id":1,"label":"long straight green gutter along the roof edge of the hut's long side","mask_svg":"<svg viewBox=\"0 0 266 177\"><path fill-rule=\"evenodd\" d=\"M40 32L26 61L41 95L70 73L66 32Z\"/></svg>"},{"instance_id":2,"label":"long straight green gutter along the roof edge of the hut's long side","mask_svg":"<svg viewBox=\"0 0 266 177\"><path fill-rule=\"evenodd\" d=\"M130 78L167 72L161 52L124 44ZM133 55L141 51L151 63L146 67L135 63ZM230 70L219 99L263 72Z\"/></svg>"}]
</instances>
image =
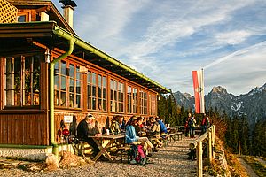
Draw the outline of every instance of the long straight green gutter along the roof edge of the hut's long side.
<instances>
[{"instance_id":1,"label":"long straight green gutter along the roof edge of the hut's long side","mask_svg":"<svg viewBox=\"0 0 266 177\"><path fill-rule=\"evenodd\" d=\"M165 92L168 92L168 93L171 92L170 89L167 89L167 88L161 86L156 81L153 81L150 78L146 77L143 73L139 73L136 70L130 68L129 66L122 64L120 61L108 56L103 51L96 49L95 47L91 46L87 42L83 42L79 37L69 34L68 32L66 32L61 27L55 26L55 29L53 30L53 33L55 35L59 35L59 36L65 38L65 39L68 39L68 38L72 37L72 38L76 39L75 44L80 46L80 47L82 47L84 50L89 50L91 53L94 53L94 54L98 55L100 58L104 58L104 59L106 59L106 61L109 61L110 63L113 63L113 65L117 65L117 66L125 69L129 73L133 73L133 74L137 75L138 77L144 79L145 81L151 82L152 84L160 87L160 89L163 89Z\"/></svg>"}]
</instances>

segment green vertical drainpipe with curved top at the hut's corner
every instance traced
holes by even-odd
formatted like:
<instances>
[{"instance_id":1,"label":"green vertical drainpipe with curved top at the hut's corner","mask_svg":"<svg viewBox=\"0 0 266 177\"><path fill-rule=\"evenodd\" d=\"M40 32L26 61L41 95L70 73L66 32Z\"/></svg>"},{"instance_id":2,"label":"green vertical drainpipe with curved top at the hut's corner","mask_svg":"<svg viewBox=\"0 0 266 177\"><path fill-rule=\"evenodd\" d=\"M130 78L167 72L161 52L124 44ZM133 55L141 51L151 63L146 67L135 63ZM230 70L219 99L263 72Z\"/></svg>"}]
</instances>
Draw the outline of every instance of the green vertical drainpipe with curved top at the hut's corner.
<instances>
[{"instance_id":1,"label":"green vertical drainpipe with curved top at the hut's corner","mask_svg":"<svg viewBox=\"0 0 266 177\"><path fill-rule=\"evenodd\" d=\"M52 153L59 158L59 145L55 142L55 130L54 130L54 65L59 62L61 59L64 59L71 55L74 50L74 42L76 40L73 37L65 38L69 41L69 50L66 53L52 60L50 64L50 141L52 144Z\"/></svg>"}]
</instances>

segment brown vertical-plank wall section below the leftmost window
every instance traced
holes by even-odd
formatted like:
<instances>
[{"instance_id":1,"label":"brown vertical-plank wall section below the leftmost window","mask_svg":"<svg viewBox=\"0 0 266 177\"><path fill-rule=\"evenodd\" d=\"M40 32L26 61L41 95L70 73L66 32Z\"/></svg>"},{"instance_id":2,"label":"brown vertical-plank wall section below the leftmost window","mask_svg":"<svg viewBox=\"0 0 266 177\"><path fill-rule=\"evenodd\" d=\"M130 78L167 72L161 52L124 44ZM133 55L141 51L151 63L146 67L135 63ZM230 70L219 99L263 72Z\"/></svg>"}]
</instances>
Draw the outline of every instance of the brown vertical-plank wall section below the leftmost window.
<instances>
[{"instance_id":1,"label":"brown vertical-plank wall section below the leftmost window","mask_svg":"<svg viewBox=\"0 0 266 177\"><path fill-rule=\"evenodd\" d=\"M45 113L1 114L0 144L49 145Z\"/></svg>"}]
</instances>

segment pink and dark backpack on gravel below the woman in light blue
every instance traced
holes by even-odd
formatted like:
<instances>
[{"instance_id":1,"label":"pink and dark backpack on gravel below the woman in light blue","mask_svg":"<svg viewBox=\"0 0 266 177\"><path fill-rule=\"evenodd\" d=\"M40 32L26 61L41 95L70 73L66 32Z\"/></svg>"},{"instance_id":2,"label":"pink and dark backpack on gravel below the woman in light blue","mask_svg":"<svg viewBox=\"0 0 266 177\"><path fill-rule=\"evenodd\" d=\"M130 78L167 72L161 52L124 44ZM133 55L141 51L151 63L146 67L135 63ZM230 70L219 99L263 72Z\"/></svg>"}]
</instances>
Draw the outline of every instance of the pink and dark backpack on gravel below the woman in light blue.
<instances>
[{"instance_id":1,"label":"pink and dark backpack on gravel below the woman in light blue","mask_svg":"<svg viewBox=\"0 0 266 177\"><path fill-rule=\"evenodd\" d=\"M145 165L147 163L147 157L143 146L138 144L132 144L129 151L130 164Z\"/></svg>"}]
</instances>

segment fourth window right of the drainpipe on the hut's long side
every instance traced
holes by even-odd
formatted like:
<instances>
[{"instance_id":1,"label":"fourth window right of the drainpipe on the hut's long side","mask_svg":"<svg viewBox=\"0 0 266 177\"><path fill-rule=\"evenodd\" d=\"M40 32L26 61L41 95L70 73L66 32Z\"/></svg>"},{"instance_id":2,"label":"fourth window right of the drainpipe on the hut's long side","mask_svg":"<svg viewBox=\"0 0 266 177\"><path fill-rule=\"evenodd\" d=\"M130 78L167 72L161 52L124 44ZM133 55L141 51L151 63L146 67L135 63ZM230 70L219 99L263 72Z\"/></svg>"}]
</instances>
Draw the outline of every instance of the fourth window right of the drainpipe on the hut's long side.
<instances>
[{"instance_id":1,"label":"fourth window right of the drainpipe on the hut's long side","mask_svg":"<svg viewBox=\"0 0 266 177\"><path fill-rule=\"evenodd\" d=\"M128 113L137 113L137 89L128 86Z\"/></svg>"}]
</instances>

